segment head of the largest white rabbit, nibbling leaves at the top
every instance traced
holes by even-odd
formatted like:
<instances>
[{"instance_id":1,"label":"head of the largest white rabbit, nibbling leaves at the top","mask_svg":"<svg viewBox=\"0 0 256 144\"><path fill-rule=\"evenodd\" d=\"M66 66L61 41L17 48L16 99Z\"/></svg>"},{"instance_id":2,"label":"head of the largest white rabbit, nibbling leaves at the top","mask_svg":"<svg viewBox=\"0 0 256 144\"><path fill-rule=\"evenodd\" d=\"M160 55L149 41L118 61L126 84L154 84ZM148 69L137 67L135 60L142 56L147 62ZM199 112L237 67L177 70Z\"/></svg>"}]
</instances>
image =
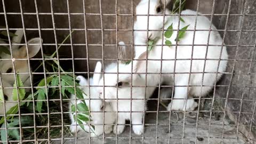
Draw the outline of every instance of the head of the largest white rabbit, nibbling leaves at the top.
<instances>
[{"instance_id":1,"label":"head of the largest white rabbit, nibbling leaves at the top","mask_svg":"<svg viewBox=\"0 0 256 144\"><path fill-rule=\"evenodd\" d=\"M164 0L162 0L164 1ZM163 28L164 23L167 21L167 16L163 16L164 5L160 0L142 0L136 7L137 21L134 23L135 30L145 30L137 31L137 35L147 39L147 29L148 38L156 39L159 36L161 31L151 31L151 30L160 30ZM169 3L170 1L166 1ZM167 5L165 3L165 5ZM149 14L149 15L148 15ZM151 15L152 14L152 15ZM165 9L165 14L171 14L171 11Z\"/></svg>"}]
</instances>

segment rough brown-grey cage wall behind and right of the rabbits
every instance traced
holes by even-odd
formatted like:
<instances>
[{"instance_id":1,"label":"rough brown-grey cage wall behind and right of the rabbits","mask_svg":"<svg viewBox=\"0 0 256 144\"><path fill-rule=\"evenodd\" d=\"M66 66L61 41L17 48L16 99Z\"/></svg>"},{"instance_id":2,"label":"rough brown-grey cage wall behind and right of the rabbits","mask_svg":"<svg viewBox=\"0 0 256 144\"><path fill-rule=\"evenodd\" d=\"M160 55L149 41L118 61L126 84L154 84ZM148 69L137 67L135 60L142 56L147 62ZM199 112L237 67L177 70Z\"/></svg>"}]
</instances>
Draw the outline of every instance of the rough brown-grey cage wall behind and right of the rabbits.
<instances>
[{"instance_id":1,"label":"rough brown-grey cage wall behind and right of the rabbits","mask_svg":"<svg viewBox=\"0 0 256 144\"><path fill-rule=\"evenodd\" d=\"M84 58L83 60L75 60L76 71L87 71L87 65L85 64L87 62L86 51L88 51L89 58L94 59L89 61L89 69L93 71L97 59L102 58L102 53L105 59L116 58L116 46L108 46L107 44L116 44L119 41L132 44L132 32L121 30L132 29L131 16L116 16L115 13L117 11L117 14L131 14L132 7L137 5L139 0L134 0L133 6L131 1L121 0L118 1L117 7L115 7L115 0L102 0L101 9L99 1L85 1L86 21L84 21L84 14L81 14L84 13L83 1L68 1L69 5L67 1L62 0L52 2L51 5L49 0L37 1L38 12L45 13L38 15L39 27L42 28L41 37L43 38L44 44L61 43L65 36L69 34L69 24L71 29L76 29L72 34L72 43L76 44L73 45L74 58ZM212 0L199 1L198 11L209 14L212 12L212 5ZM3 12L2 2L0 6L0 10ZM53 7L52 11L51 6ZM188 9L194 10L196 10L196 6L196 0L188 1L186 5ZM36 13L34 0L22 0L21 7L24 13ZM256 18L255 16L248 16L246 14L255 14L256 2L254 0L231 0L230 11L228 11L229 0L218 0L215 1L214 7L214 14L227 14L229 12L229 14L245 15L244 18L242 16L229 16L228 21L226 15L214 15L213 17L214 25L221 30L225 30L227 21L226 29L230 31L227 31L226 34L222 31L221 35L225 36L225 44L231 45L228 46L230 60L228 62L227 74L218 83L218 85L225 86L217 86L215 97L218 98L217 101L221 102L222 108L227 111L226 115L233 119L236 124L239 124L239 129L244 132L246 137L255 139L253 136L253 133L255 134L256 131L256 116L255 114L253 115L256 105L256 90L254 88L256 87L255 31L248 30L255 30ZM6 12L20 12L19 1L5 1L5 8ZM68 8L69 12L77 13L70 15L70 23L69 15L67 14ZM54 15L54 26L51 12ZM104 13L102 15L102 21L100 13ZM27 38L39 36L37 15L24 14L23 18L25 28L29 28L26 30ZM0 15L0 19L1 26L4 26L3 14ZM8 14L7 20L9 28L22 28L20 14ZM85 22L87 37L85 35ZM54 27L56 28L57 42L54 40ZM103 34L101 33L101 27L103 28ZM116 27L119 29L117 35ZM65 30L60 30L60 28ZM85 45L86 40L87 45ZM103 52L102 41L104 44ZM55 49L55 45L44 45L45 52L52 52ZM62 46L60 55L71 58L71 46ZM111 61L106 60L105 62L107 64Z\"/></svg>"}]
</instances>

